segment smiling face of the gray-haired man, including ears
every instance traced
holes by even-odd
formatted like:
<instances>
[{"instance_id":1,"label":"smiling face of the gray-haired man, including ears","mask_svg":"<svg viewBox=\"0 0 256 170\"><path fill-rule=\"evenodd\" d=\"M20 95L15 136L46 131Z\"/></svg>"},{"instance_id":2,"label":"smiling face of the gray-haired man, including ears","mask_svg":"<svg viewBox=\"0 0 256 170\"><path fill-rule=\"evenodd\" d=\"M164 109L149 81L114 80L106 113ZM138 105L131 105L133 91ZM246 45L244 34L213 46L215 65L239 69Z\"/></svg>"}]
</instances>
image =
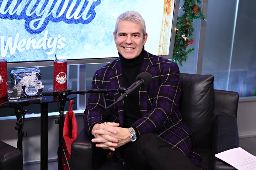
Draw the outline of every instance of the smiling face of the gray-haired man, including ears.
<instances>
[{"instance_id":1,"label":"smiling face of the gray-haired man, including ears","mask_svg":"<svg viewBox=\"0 0 256 170\"><path fill-rule=\"evenodd\" d=\"M147 38L148 34L143 36L142 24L128 20L120 21L114 33L117 50L126 59L138 57Z\"/></svg>"}]
</instances>

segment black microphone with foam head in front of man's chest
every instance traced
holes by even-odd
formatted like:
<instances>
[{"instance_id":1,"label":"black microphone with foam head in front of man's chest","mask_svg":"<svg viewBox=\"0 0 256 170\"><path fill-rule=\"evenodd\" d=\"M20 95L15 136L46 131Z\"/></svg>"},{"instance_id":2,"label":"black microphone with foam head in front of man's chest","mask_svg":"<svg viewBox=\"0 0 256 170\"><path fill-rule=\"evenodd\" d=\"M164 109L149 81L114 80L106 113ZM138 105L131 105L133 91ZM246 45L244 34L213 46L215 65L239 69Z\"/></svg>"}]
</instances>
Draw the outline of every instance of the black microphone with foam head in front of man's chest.
<instances>
[{"instance_id":1,"label":"black microphone with foam head in front of man's chest","mask_svg":"<svg viewBox=\"0 0 256 170\"><path fill-rule=\"evenodd\" d=\"M130 87L127 88L127 90L122 94L120 97L118 97L117 102L121 101L124 99L124 97L127 97L128 95L132 94L134 91L139 89L140 87L146 87L151 83L152 77L148 72L142 72L140 73L137 78L135 83L130 85Z\"/></svg>"}]
</instances>

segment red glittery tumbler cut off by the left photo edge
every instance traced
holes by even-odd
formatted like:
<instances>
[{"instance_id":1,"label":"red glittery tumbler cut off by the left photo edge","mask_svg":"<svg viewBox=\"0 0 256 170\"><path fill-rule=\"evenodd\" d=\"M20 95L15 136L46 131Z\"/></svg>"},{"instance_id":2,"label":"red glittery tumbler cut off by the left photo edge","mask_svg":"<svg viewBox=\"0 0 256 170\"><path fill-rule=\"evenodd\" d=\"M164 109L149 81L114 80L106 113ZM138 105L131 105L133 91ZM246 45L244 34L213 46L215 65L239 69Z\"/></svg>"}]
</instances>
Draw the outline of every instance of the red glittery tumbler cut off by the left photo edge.
<instances>
[{"instance_id":1,"label":"red glittery tumbler cut off by the left photo edge","mask_svg":"<svg viewBox=\"0 0 256 170\"><path fill-rule=\"evenodd\" d=\"M0 98L7 97L6 81L7 61L4 58L0 58Z\"/></svg>"}]
</instances>

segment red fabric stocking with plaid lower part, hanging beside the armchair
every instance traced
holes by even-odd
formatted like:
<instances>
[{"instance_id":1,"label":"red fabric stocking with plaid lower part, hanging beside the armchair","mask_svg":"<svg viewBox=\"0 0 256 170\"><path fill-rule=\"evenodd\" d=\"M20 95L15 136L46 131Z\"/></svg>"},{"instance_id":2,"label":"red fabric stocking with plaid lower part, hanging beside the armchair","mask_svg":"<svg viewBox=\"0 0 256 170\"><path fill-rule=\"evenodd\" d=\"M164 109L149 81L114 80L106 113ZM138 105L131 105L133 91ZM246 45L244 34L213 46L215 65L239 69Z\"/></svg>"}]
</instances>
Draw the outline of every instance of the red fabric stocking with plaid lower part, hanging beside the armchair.
<instances>
[{"instance_id":1,"label":"red fabric stocking with plaid lower part, hanging beside the armchair","mask_svg":"<svg viewBox=\"0 0 256 170\"><path fill-rule=\"evenodd\" d=\"M70 100L69 111L66 112L64 127L63 127L63 141L62 141L62 169L70 169L71 145L78 136L78 125L75 118L75 113L72 111L73 101Z\"/></svg>"}]
</instances>

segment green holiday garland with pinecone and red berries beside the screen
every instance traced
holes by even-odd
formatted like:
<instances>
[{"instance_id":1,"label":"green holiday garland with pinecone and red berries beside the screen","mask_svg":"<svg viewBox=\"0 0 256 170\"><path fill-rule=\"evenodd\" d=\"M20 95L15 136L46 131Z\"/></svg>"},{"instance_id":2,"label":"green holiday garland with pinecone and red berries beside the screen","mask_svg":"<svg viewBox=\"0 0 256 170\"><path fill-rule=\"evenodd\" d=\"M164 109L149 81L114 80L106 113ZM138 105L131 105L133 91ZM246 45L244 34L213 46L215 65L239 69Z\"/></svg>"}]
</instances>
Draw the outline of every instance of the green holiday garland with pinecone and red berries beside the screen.
<instances>
[{"instance_id":1,"label":"green holiday garland with pinecone and red berries beside the screen","mask_svg":"<svg viewBox=\"0 0 256 170\"><path fill-rule=\"evenodd\" d=\"M202 8L199 7L201 0L183 0L184 5L183 15L177 18L176 36L174 42L174 52L172 61L182 66L182 62L186 62L188 54L194 52L194 48L187 49L190 44L193 44L193 20L205 20Z\"/></svg>"}]
</instances>

